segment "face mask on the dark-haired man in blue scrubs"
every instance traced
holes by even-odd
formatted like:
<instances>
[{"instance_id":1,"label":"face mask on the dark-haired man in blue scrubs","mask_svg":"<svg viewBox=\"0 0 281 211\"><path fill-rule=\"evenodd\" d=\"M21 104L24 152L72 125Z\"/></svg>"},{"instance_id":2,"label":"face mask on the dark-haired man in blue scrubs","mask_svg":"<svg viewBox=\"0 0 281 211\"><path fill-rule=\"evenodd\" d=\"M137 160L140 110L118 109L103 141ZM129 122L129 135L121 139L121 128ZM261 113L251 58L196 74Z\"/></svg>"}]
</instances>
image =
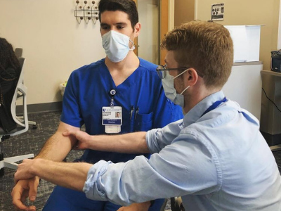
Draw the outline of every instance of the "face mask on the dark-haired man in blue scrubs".
<instances>
[{"instance_id":1,"label":"face mask on the dark-haired man in blue scrubs","mask_svg":"<svg viewBox=\"0 0 281 211\"><path fill-rule=\"evenodd\" d=\"M105 49L105 53L107 57L113 63L119 63L122 61L129 53L129 51L133 51L135 46L131 49L129 48L129 41L131 41L130 37L125 34L115 32L111 30L102 36L103 40L103 49ZM131 41L133 43L133 41Z\"/></svg>"}]
</instances>

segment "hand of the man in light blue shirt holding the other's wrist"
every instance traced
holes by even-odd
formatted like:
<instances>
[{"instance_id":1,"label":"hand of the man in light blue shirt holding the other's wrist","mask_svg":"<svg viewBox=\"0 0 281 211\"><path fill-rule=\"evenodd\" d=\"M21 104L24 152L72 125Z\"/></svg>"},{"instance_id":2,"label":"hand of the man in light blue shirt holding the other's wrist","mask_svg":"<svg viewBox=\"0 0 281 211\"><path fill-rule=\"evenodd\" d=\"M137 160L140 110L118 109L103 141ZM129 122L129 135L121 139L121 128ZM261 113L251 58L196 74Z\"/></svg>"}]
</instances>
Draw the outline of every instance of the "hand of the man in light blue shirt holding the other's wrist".
<instances>
[{"instance_id":1,"label":"hand of the man in light blue shirt holding the other's wrist","mask_svg":"<svg viewBox=\"0 0 281 211\"><path fill-rule=\"evenodd\" d=\"M32 165L34 164L34 160L25 159L18 165L18 170L15 172L15 184L22 179L31 179L35 175L31 173Z\"/></svg>"}]
</instances>

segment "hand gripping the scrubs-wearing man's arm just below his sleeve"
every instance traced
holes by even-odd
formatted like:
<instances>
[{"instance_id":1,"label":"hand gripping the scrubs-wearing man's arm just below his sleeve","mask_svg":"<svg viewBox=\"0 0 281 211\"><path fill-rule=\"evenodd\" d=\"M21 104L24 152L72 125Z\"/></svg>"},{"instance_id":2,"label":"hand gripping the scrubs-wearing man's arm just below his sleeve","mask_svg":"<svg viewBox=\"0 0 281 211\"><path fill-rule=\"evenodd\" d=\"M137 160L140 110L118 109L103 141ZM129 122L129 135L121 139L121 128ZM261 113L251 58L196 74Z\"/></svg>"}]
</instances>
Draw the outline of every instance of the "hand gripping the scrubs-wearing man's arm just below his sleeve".
<instances>
[{"instance_id":1,"label":"hand gripping the scrubs-wearing man's arm just below his sleeve","mask_svg":"<svg viewBox=\"0 0 281 211\"><path fill-rule=\"evenodd\" d=\"M89 141L91 140L91 136L86 132L82 132L81 130L67 130L63 132L64 136L74 136L77 139L77 144L74 145L74 150L84 150L89 148Z\"/></svg>"}]
</instances>

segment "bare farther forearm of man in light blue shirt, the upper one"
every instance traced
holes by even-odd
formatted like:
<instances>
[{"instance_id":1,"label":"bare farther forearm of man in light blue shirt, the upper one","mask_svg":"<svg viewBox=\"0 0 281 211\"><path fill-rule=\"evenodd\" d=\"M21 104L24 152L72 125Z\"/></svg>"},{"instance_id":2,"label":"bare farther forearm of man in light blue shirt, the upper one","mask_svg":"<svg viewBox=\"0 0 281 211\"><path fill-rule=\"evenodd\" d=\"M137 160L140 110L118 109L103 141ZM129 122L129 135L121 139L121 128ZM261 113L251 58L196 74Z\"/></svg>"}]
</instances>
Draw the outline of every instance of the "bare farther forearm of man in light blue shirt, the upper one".
<instances>
[{"instance_id":1,"label":"bare farther forearm of man in light blue shirt, the upper one","mask_svg":"<svg viewBox=\"0 0 281 211\"><path fill-rule=\"evenodd\" d=\"M91 136L89 148L117 153L150 153L145 134L146 132L136 132L114 136Z\"/></svg>"}]
</instances>

